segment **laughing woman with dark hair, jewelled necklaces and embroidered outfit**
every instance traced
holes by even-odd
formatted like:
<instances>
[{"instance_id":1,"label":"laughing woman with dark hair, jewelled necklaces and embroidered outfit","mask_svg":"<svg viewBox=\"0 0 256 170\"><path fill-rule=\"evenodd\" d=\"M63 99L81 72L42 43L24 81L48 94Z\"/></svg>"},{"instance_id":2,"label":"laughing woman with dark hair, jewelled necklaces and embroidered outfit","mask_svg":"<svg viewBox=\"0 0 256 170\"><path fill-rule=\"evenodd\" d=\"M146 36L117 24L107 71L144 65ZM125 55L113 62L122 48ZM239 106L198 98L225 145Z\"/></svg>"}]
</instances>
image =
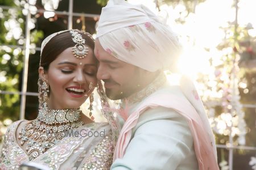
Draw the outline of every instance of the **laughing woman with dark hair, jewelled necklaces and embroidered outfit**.
<instances>
[{"instance_id":1,"label":"laughing woman with dark hair, jewelled necklaces and embroidered outfit","mask_svg":"<svg viewBox=\"0 0 256 170\"><path fill-rule=\"evenodd\" d=\"M97 80L94 40L76 29L49 35L42 43L39 66L39 114L35 120L9 126L0 155L0 169L38 163L49 169L109 169L118 124ZM108 123L93 122L79 109L86 99L93 109L98 87Z\"/></svg>"}]
</instances>

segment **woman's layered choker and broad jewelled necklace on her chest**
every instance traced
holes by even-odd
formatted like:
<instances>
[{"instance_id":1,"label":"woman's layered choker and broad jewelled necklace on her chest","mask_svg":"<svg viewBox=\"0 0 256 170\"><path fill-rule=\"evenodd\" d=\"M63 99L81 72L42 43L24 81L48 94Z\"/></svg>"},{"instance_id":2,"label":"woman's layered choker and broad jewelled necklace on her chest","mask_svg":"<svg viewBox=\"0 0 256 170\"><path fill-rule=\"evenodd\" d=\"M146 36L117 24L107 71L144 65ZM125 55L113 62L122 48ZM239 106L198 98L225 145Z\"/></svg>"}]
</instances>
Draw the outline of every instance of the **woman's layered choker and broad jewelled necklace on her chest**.
<instances>
[{"instance_id":1,"label":"woman's layered choker and broad jewelled necklace on her chest","mask_svg":"<svg viewBox=\"0 0 256 170\"><path fill-rule=\"evenodd\" d=\"M80 109L48 109L47 104L39 108L38 117L24 125L19 132L20 145L27 143L30 160L37 158L58 143L65 131L75 129L84 123L80 121Z\"/></svg>"}]
</instances>

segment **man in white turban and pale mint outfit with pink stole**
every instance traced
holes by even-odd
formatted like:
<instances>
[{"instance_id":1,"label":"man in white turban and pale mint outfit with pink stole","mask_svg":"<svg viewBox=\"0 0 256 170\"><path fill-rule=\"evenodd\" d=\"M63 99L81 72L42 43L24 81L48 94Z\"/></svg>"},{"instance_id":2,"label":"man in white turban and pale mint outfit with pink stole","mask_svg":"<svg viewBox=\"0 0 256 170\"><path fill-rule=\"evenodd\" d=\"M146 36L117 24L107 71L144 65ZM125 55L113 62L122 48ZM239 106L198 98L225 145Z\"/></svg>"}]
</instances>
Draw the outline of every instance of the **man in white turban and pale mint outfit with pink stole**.
<instances>
[{"instance_id":1,"label":"man in white turban and pale mint outfit with pink stole","mask_svg":"<svg viewBox=\"0 0 256 170\"><path fill-rule=\"evenodd\" d=\"M188 79L170 86L180 44L143 5L110 0L102 8L94 53L106 95L122 99L123 128L112 169L218 169L203 104Z\"/></svg>"}]
</instances>

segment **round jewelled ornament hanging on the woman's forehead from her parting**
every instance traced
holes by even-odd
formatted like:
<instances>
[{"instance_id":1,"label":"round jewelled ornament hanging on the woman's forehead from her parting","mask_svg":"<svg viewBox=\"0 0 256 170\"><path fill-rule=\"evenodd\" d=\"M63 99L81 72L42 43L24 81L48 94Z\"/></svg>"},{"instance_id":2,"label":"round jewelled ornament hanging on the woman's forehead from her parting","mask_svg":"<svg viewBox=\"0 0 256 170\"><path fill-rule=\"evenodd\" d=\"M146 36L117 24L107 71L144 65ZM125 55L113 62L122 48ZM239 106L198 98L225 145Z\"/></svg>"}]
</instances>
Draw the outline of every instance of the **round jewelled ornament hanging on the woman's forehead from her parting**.
<instances>
[{"instance_id":1,"label":"round jewelled ornament hanging on the woman's forehead from her parting","mask_svg":"<svg viewBox=\"0 0 256 170\"><path fill-rule=\"evenodd\" d=\"M77 31L69 31L72 35L73 42L76 43L72 48L72 52L76 58L84 58L87 56L89 49L85 46L85 39L82 38L81 34Z\"/></svg>"}]
</instances>

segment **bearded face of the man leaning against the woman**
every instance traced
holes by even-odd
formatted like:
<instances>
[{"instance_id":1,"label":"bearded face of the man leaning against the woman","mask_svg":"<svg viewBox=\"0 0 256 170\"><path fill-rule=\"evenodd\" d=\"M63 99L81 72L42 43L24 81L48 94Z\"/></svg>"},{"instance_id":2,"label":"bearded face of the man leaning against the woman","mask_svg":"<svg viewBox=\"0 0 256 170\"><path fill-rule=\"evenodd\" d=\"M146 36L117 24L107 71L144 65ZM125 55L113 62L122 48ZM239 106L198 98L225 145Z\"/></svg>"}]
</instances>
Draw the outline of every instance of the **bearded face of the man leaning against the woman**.
<instances>
[{"instance_id":1,"label":"bearded face of the man leaning against the woman","mask_svg":"<svg viewBox=\"0 0 256 170\"><path fill-rule=\"evenodd\" d=\"M99 61L97 78L104 81L106 95L110 99L123 99L137 91L142 69L113 57L102 48L98 39L94 54Z\"/></svg>"}]
</instances>

